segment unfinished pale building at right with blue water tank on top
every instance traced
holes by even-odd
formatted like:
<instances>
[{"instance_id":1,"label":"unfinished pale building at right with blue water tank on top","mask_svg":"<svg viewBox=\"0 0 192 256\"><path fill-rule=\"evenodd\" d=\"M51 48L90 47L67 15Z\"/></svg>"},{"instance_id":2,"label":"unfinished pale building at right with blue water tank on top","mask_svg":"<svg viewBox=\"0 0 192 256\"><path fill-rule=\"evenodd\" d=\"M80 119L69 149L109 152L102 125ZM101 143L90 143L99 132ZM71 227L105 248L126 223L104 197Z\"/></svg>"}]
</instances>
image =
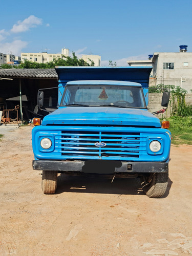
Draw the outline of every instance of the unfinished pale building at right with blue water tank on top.
<instances>
[{"instance_id":1,"label":"unfinished pale building at right with blue water tank on top","mask_svg":"<svg viewBox=\"0 0 192 256\"><path fill-rule=\"evenodd\" d=\"M128 60L130 66L152 66L150 83L173 84L190 92L192 89L192 52L179 46L179 52L155 52L148 60Z\"/></svg>"}]
</instances>

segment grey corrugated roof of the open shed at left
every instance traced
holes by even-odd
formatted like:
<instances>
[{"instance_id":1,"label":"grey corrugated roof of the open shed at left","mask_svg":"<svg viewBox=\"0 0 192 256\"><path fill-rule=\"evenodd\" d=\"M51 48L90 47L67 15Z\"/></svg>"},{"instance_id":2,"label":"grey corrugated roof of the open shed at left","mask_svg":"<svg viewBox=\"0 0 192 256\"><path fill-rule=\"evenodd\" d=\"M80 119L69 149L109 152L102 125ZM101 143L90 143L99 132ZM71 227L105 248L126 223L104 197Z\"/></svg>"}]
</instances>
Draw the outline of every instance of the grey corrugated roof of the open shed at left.
<instances>
[{"instance_id":1,"label":"grey corrugated roof of the open shed at left","mask_svg":"<svg viewBox=\"0 0 192 256\"><path fill-rule=\"evenodd\" d=\"M55 69L0 69L0 77L57 78Z\"/></svg>"}]
</instances>

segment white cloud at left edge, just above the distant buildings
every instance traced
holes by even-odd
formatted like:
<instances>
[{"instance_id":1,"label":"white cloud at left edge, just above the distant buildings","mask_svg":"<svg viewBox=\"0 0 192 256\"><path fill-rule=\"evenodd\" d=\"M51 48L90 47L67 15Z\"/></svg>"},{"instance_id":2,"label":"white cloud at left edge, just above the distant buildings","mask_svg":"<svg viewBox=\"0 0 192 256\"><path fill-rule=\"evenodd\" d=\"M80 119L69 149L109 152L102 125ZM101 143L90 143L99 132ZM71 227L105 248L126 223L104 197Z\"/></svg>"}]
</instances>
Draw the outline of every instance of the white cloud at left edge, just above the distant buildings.
<instances>
[{"instance_id":1,"label":"white cloud at left edge, just above the distant buildings","mask_svg":"<svg viewBox=\"0 0 192 256\"><path fill-rule=\"evenodd\" d=\"M27 47L28 42L22 40L14 40L12 42L5 42L4 44L0 43L1 52L7 54L10 51L15 56L20 56L22 49Z\"/></svg>"}]
</instances>

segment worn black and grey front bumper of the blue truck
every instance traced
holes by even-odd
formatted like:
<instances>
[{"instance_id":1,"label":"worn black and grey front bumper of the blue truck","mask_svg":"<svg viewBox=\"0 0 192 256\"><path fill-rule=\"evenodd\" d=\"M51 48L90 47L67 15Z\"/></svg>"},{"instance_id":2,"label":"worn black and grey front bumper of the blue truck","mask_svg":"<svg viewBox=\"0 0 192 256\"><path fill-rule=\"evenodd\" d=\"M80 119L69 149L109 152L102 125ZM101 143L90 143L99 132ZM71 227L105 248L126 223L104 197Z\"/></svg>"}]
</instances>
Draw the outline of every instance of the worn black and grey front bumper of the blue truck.
<instances>
[{"instance_id":1,"label":"worn black and grey front bumper of the blue truck","mask_svg":"<svg viewBox=\"0 0 192 256\"><path fill-rule=\"evenodd\" d=\"M101 160L93 160L93 166ZM83 172L86 162L91 161L50 161L50 160L33 160L34 170L53 170L58 173L62 172ZM107 161L104 161L105 164ZM110 161L109 161L110 162ZM168 163L166 162L127 162L113 161L111 173L167 173ZM117 164L116 164L117 163ZM110 163L110 167L113 163ZM92 170L90 170L93 173ZM87 171L86 171L87 173ZM95 172L94 172L95 173ZM99 172L100 173L100 172ZM105 174L104 170L102 172Z\"/></svg>"}]
</instances>

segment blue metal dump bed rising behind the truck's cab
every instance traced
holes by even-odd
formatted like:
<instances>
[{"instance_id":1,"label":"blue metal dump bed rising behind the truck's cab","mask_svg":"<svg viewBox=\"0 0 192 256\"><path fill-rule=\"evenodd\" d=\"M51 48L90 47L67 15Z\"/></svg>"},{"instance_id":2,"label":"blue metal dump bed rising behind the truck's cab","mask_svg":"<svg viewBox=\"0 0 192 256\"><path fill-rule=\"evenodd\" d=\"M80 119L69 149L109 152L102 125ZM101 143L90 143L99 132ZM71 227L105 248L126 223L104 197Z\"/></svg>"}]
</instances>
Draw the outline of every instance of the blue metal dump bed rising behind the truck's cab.
<instances>
[{"instance_id":1,"label":"blue metal dump bed rising behind the truck's cab","mask_svg":"<svg viewBox=\"0 0 192 256\"><path fill-rule=\"evenodd\" d=\"M58 103L69 81L117 80L138 82L142 85L148 103L148 81L152 67L55 67L58 74Z\"/></svg>"}]
</instances>

